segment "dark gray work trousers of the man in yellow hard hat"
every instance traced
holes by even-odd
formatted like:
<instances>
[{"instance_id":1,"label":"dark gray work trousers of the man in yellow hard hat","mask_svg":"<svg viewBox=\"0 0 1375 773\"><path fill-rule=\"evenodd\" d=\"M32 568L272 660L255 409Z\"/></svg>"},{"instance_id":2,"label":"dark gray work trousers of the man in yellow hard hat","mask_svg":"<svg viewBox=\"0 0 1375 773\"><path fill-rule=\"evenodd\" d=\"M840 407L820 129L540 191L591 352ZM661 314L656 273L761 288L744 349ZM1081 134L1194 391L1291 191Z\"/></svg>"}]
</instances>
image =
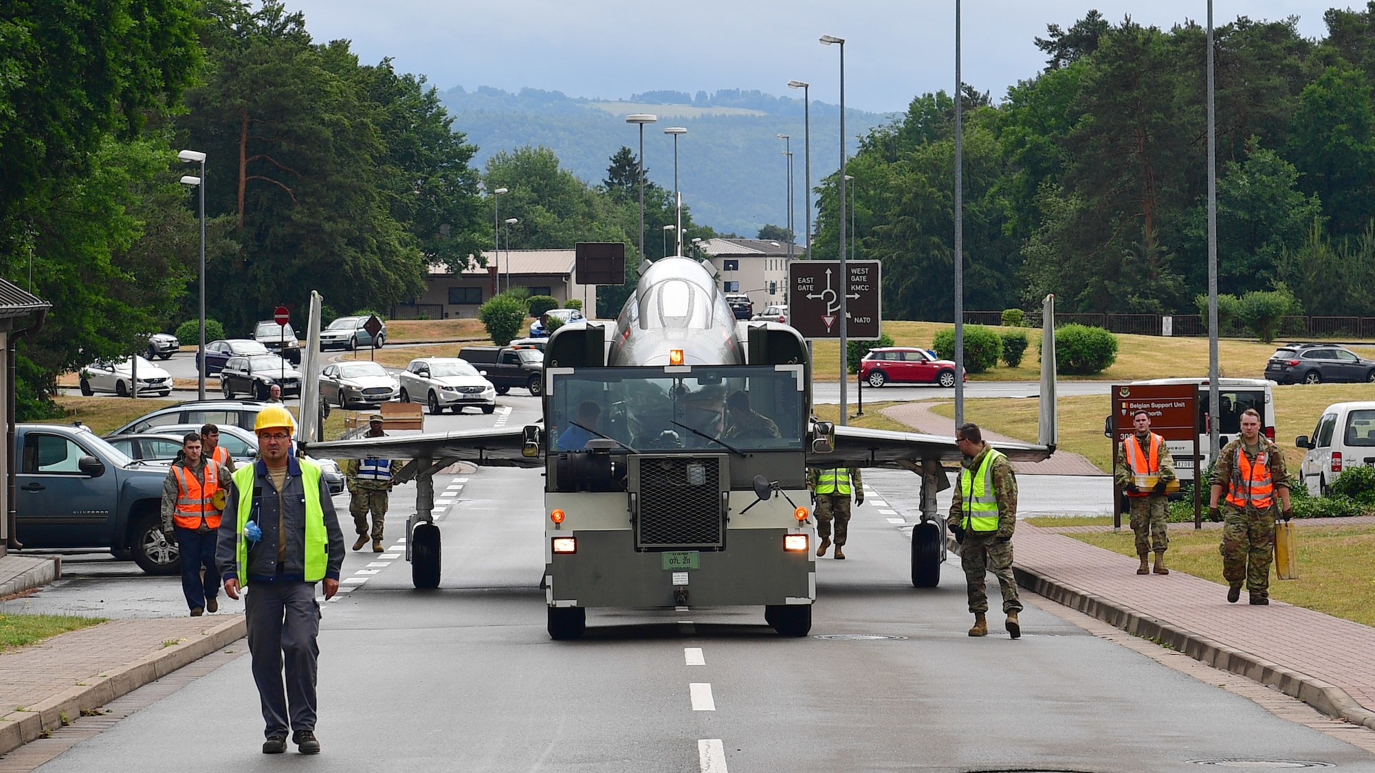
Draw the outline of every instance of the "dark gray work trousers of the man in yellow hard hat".
<instances>
[{"instance_id":1,"label":"dark gray work trousers of the man in yellow hard hat","mask_svg":"<svg viewBox=\"0 0 1375 773\"><path fill-rule=\"evenodd\" d=\"M315 671L320 648L320 605L315 583L254 582L243 600L253 681L263 701L264 736L315 729ZM286 657L283 690L282 660Z\"/></svg>"}]
</instances>

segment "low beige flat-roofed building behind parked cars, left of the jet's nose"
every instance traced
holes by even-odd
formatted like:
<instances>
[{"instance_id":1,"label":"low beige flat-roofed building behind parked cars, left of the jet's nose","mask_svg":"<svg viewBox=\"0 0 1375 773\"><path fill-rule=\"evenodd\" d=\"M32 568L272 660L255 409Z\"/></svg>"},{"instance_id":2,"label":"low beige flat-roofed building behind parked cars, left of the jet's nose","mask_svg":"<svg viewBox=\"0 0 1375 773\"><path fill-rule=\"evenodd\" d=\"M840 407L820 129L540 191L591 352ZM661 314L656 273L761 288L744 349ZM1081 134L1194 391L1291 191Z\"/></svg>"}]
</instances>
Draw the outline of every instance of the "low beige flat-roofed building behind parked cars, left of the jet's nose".
<instances>
[{"instance_id":1,"label":"low beige flat-roofed building behind parked cars, left of the jet's nose","mask_svg":"<svg viewBox=\"0 0 1375 773\"><path fill-rule=\"evenodd\" d=\"M507 256L510 261L507 264ZM573 275L571 249L513 249L500 254L484 252L487 265L470 263L454 274L447 265L432 265L425 293L411 303L396 304L393 319L454 319L477 316L477 309L506 287L528 287L532 296L553 296L560 305L572 298L583 309L595 311L597 289L579 285Z\"/></svg>"}]
</instances>

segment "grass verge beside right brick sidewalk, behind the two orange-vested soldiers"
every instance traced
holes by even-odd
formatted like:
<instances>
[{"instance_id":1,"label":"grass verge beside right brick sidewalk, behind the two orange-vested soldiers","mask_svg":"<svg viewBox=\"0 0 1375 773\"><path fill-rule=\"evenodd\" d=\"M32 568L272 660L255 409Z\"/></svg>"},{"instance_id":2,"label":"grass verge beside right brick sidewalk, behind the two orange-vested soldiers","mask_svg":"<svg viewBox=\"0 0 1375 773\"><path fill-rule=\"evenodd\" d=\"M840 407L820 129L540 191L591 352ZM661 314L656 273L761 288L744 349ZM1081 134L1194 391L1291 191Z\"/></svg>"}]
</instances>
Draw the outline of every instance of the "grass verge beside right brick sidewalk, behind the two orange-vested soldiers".
<instances>
[{"instance_id":1,"label":"grass verge beside right brick sidewalk, behind the two orange-vested soldiers","mask_svg":"<svg viewBox=\"0 0 1375 773\"><path fill-rule=\"evenodd\" d=\"M1062 521L1068 519L1046 519ZM1038 524L1040 525L1040 524ZM1071 525L1071 524L1062 524ZM1066 534L1081 542L1136 557L1132 530ZM1218 554L1220 531L1170 532L1167 565L1196 578L1226 585ZM1270 597L1335 618L1375 626L1375 527L1336 525L1298 530L1298 579L1270 575ZM1218 589L1218 597L1222 596ZM1242 597L1242 604L1246 597Z\"/></svg>"}]
</instances>

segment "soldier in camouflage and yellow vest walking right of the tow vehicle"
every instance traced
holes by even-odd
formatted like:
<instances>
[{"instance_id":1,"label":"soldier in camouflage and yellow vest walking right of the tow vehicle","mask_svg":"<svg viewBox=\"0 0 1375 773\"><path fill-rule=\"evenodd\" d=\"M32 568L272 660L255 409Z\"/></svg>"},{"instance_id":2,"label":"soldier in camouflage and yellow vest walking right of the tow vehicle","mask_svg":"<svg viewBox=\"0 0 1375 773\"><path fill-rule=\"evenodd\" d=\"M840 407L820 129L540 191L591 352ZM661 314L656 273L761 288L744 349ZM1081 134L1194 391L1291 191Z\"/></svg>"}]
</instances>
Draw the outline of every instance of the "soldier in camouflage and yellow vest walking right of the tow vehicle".
<instances>
[{"instance_id":1,"label":"soldier in camouflage and yellow vest walking right of the tow vehicle","mask_svg":"<svg viewBox=\"0 0 1375 773\"><path fill-rule=\"evenodd\" d=\"M1022 635L1018 612L1018 582L1012 576L1012 532L1018 525L1018 479L1012 462L983 442L975 424L954 431L956 446L964 454L964 469L956 481L950 502L950 531L960 542L960 565L969 590L974 627L969 635L989 635L987 572L998 578L1002 611L1012 638ZM990 491L991 488L991 491Z\"/></svg>"}]
</instances>

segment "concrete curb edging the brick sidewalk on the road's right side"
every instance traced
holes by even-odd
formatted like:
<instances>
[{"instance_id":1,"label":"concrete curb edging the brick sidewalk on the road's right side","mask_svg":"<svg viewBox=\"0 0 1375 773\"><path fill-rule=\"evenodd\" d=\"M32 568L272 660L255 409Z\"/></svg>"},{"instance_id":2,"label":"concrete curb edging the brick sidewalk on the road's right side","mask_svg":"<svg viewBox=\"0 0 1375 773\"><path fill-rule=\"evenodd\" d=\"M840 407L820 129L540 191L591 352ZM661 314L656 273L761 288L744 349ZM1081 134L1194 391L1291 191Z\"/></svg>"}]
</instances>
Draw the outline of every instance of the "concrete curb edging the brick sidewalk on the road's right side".
<instances>
[{"instance_id":1,"label":"concrete curb edging the brick sidewalk on the road's right side","mask_svg":"<svg viewBox=\"0 0 1375 773\"><path fill-rule=\"evenodd\" d=\"M1292 668L1257 657L1248 652L1242 652L1225 644L1213 641L1204 635L1173 626L1167 622L1143 615L1129 607L1115 604L1086 590L1046 578L1023 567L1013 565L1012 572L1018 578L1018 585L1035 591L1070 609L1084 612L1097 618L1110 626L1125 630L1129 634L1155 641L1170 649L1176 649L1224 671L1231 671L1246 677L1254 682L1273 686L1297 697L1313 708L1345 719L1353 725L1363 725L1375 730L1375 712L1356 701L1342 688L1309 677Z\"/></svg>"}]
</instances>

